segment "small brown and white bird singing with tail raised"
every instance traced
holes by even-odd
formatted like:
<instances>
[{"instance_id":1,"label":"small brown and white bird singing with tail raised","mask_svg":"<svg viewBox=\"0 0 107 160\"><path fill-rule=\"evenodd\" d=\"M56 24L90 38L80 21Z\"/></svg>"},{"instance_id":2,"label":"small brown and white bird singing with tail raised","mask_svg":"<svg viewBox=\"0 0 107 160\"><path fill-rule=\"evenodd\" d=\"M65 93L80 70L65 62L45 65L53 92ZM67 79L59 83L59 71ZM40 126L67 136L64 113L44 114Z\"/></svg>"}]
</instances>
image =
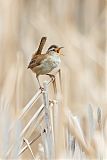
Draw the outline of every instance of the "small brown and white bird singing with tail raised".
<instances>
[{"instance_id":1,"label":"small brown and white bird singing with tail raised","mask_svg":"<svg viewBox=\"0 0 107 160\"><path fill-rule=\"evenodd\" d=\"M59 66L61 62L60 49L63 48L63 47L58 47L57 45L51 45L45 54L41 54L45 42L46 42L46 37L42 37L39 48L35 52L35 54L32 56L32 59L28 65L28 68L30 68L34 73L36 73L36 78L38 80L41 90L43 88L40 85L38 76L39 75L52 76L49 73L54 68L57 68Z\"/></svg>"}]
</instances>

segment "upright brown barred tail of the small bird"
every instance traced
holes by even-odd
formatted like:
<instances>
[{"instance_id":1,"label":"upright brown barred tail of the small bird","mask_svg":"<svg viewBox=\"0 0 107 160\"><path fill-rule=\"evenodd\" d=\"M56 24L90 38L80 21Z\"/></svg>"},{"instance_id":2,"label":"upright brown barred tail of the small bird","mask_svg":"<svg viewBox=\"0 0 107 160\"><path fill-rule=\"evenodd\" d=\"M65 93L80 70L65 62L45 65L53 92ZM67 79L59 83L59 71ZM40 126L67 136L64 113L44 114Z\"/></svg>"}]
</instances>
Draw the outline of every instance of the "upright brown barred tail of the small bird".
<instances>
[{"instance_id":1,"label":"upright brown barred tail of the small bird","mask_svg":"<svg viewBox=\"0 0 107 160\"><path fill-rule=\"evenodd\" d=\"M42 37L41 38L38 50L34 53L34 55L32 56L32 58L34 58L36 55L40 55L42 53L42 50L43 50L43 47L45 45L46 39L47 39L47 37Z\"/></svg>"}]
</instances>

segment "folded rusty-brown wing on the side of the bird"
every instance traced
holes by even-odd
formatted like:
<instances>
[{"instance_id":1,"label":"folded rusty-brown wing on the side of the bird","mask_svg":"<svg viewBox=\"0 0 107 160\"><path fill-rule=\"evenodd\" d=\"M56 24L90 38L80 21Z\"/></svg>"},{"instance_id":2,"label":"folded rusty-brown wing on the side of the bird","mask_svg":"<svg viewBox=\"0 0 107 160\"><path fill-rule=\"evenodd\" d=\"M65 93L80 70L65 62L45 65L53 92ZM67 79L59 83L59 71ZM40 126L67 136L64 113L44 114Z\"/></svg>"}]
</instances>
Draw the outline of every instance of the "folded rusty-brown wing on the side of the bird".
<instances>
[{"instance_id":1,"label":"folded rusty-brown wing on the side of the bird","mask_svg":"<svg viewBox=\"0 0 107 160\"><path fill-rule=\"evenodd\" d=\"M35 57L33 57L28 65L28 68L33 68L36 66L39 66L42 61L47 58L47 54L40 54L40 55L36 55Z\"/></svg>"}]
</instances>

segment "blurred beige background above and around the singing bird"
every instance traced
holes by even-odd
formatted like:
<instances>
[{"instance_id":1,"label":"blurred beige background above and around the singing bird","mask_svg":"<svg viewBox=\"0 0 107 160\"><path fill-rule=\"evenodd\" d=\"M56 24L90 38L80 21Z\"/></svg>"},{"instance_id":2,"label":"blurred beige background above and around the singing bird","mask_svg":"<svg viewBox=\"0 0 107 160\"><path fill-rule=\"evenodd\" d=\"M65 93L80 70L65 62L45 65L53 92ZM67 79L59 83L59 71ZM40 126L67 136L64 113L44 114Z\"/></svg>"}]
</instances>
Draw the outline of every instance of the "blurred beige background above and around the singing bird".
<instances>
[{"instance_id":1,"label":"blurred beige background above and around the singing bird","mask_svg":"<svg viewBox=\"0 0 107 160\"><path fill-rule=\"evenodd\" d=\"M15 117L38 90L27 65L42 36L44 52L64 46L64 105L76 115L88 104L107 113L106 0L0 0L1 109Z\"/></svg>"}]
</instances>

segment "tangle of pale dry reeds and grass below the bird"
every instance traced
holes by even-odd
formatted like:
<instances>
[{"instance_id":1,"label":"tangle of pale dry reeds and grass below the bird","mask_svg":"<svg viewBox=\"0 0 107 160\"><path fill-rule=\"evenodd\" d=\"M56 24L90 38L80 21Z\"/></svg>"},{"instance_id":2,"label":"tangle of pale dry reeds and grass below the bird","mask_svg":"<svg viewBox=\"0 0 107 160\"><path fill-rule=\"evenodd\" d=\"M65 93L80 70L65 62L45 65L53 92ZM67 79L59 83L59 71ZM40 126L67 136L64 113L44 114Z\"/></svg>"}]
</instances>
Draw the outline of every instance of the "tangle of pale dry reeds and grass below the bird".
<instances>
[{"instance_id":1,"label":"tangle of pale dry reeds and grass below the bird","mask_svg":"<svg viewBox=\"0 0 107 160\"><path fill-rule=\"evenodd\" d=\"M30 159L106 159L106 119L101 109L93 111L89 105L88 115L79 119L67 106L63 108L60 81L56 81L57 92L53 95L56 98L49 100L51 83L52 80L43 83L44 91L36 93L14 119L14 124L10 112L1 111L1 157L19 159L29 154ZM25 117L40 96L43 104L24 125ZM32 148L34 144L36 150Z\"/></svg>"}]
</instances>

